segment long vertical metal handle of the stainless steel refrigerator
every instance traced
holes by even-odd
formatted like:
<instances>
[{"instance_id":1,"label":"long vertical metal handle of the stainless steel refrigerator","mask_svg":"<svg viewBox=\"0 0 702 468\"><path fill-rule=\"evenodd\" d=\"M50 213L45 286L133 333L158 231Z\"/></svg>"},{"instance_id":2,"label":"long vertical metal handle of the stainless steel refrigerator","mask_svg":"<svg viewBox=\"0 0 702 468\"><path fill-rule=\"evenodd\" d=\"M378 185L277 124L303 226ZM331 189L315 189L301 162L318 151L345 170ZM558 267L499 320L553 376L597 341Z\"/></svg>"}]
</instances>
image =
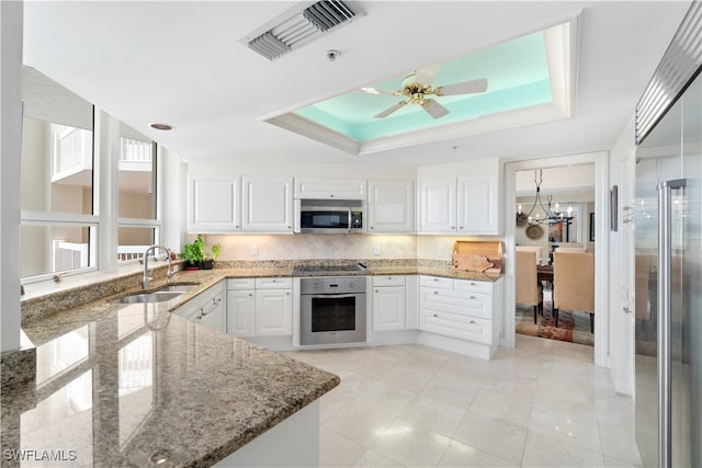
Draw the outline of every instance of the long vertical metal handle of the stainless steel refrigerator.
<instances>
[{"instance_id":1,"label":"long vertical metal handle of the stainless steel refrigerator","mask_svg":"<svg viewBox=\"0 0 702 468\"><path fill-rule=\"evenodd\" d=\"M670 362L670 258L671 194L682 189L684 179L658 184L658 466L672 466L671 362Z\"/></svg>"}]
</instances>

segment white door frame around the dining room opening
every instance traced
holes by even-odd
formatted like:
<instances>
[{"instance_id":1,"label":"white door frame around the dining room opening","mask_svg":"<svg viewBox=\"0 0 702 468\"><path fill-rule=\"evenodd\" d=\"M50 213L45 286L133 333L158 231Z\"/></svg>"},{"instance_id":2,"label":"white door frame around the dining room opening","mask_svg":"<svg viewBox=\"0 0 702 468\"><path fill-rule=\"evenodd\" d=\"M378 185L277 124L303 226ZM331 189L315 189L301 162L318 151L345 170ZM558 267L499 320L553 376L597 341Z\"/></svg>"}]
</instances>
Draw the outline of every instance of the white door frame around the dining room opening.
<instances>
[{"instance_id":1,"label":"white door frame around the dining room opening","mask_svg":"<svg viewBox=\"0 0 702 468\"><path fill-rule=\"evenodd\" d=\"M607 219L608 217L608 153L590 152L582 155L571 155L554 158L542 158L523 161L510 161L505 164L505 253L506 283L505 283L505 342L507 347L514 347L516 343L516 316L514 316L514 246L517 243L517 173L520 171L533 171L536 169L559 168L581 164L595 165L595 213L596 219ZM587 222L587 221L586 221ZM608 283L609 273L607 265L607 252L609 251L607 222L595 221L592 235L597 242L593 243L595 252L595 309L597 320L595 321L595 364L608 366ZM588 228L589 232L589 228ZM589 236L589 233L588 233ZM598 267L599 265L599 267Z\"/></svg>"}]
</instances>

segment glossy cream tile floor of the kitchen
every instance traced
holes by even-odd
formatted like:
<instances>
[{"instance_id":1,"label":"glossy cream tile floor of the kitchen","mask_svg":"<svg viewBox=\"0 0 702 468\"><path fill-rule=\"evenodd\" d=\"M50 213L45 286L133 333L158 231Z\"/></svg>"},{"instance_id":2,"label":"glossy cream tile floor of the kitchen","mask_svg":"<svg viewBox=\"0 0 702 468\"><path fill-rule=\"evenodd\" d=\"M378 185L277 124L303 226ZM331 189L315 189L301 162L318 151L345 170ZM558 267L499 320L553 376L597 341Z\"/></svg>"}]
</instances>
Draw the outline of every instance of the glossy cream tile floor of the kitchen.
<instances>
[{"instance_id":1,"label":"glossy cream tile floor of the kitchen","mask_svg":"<svg viewBox=\"0 0 702 468\"><path fill-rule=\"evenodd\" d=\"M322 467L641 466L632 399L591 346L517 335L492 361L421 345L287 354L341 377L320 400Z\"/></svg>"}]
</instances>

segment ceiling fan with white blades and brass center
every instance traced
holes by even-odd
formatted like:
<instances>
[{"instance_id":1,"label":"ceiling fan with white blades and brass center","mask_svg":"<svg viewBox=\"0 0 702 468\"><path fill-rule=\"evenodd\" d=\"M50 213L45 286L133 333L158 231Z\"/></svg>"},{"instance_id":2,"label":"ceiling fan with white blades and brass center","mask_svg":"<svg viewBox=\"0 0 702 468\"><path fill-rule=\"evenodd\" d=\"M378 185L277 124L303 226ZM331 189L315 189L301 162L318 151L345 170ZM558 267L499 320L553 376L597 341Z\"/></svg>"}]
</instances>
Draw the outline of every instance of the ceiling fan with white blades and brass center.
<instances>
[{"instance_id":1,"label":"ceiling fan with white blades and brass center","mask_svg":"<svg viewBox=\"0 0 702 468\"><path fill-rule=\"evenodd\" d=\"M409 73L403 80L401 89L399 91L361 88L361 91L369 94L393 94L405 98L404 101L400 101L380 114L374 115L374 118L385 118L395 111L398 111L410 103L420 105L421 109L427 111L427 113L433 118L440 118L446 115L449 110L429 96L482 93L487 90L487 79L485 78L434 88L432 82L440 69L441 65L437 65Z\"/></svg>"}]
</instances>

